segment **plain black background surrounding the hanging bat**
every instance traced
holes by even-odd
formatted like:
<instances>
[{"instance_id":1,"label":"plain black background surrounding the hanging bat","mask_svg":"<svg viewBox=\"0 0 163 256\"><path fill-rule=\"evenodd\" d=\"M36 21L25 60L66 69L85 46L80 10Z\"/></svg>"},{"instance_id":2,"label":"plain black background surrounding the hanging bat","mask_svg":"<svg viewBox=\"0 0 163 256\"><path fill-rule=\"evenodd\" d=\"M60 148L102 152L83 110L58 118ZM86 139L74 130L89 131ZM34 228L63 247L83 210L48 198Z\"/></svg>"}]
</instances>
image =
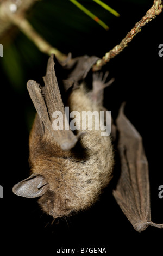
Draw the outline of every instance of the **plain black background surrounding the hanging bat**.
<instances>
[{"instance_id":1,"label":"plain black background surrounding the hanging bat","mask_svg":"<svg viewBox=\"0 0 163 256\"><path fill-rule=\"evenodd\" d=\"M52 3L52 1L48 2ZM83 4L86 2L83 1ZM36 10L43 8L41 2L37 8L32 10L30 19L36 26L34 15L40 22L42 17L40 33L42 32L47 38L49 35L48 40L51 44L62 52L66 54L72 52L73 57L83 54L102 57L105 52L120 43L153 3L153 1L143 1L141 4L139 1L110 2L107 3L112 4L111 6L121 13L121 17L109 18L107 21L107 14L105 14L104 20L108 22L109 31L104 31L98 24L85 16L84 19L88 19L89 23L87 23L88 20L81 20L80 17L84 14L81 14L80 10L74 9L75 7L72 7L71 11L74 16L72 15L71 19L72 23L82 24L81 28L79 26L79 30L75 29L73 25L71 27L70 23L61 17L59 19L59 15L48 17L45 11L45 14L41 16ZM95 8L95 5L92 6ZM53 10L51 11L53 12ZM103 12L105 13L104 10ZM63 11L62 15L66 15L66 11ZM47 25L49 20L51 26ZM163 185L163 57L158 55L158 46L163 43L162 20L163 14L160 14L143 27L129 46L103 68L104 72L110 71L109 78L115 78L115 82L105 89L105 106L116 118L121 103L126 101L125 113L143 138L149 162L152 221L155 223L163 223L163 199L158 197L158 188ZM55 30L56 33L61 34L60 38L57 38ZM70 38L68 38L69 32ZM24 40L24 45L34 47L36 55L30 56L28 52L25 52L23 56L20 51L20 59L25 70L22 88L17 88L8 77L7 71L3 67L1 68L0 185L3 186L4 191L4 198L0 200L1 247L4 246L7 252L12 251L17 254L27 252L39 254L47 250L47 254L55 255L57 248L60 247L75 248L76 250L80 250L81 247L102 247L108 254L149 253L152 249L154 249L155 255L161 253L163 230L148 227L142 233L137 233L112 196L114 181L91 209L66 220L55 221L53 225L51 225L52 218L42 214L37 200L17 197L12 193L12 186L29 175L30 122L28 119L33 118L35 110L26 90L26 82L30 78L41 80L41 77L45 75L48 59L48 56L39 53L31 42L26 41L21 33L17 34L17 38ZM19 47L20 43L17 38L14 39L15 45ZM26 50L25 46L24 50ZM5 51L7 52L7 49ZM5 51L3 58L5 58ZM75 255L78 254L79 252L76 252Z\"/></svg>"}]
</instances>

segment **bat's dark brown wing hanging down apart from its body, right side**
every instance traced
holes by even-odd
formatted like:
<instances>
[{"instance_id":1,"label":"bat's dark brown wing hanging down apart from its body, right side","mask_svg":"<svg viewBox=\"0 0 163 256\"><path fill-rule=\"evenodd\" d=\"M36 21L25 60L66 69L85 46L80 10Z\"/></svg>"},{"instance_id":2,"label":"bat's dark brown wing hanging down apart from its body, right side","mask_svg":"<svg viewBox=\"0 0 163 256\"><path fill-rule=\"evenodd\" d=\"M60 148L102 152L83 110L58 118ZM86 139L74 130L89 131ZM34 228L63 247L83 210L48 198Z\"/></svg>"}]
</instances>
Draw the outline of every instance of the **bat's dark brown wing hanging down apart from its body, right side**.
<instances>
[{"instance_id":1,"label":"bat's dark brown wing hanging down apart from its body, right side","mask_svg":"<svg viewBox=\"0 0 163 256\"><path fill-rule=\"evenodd\" d=\"M148 161L142 138L124 115L123 108L124 104L116 120L121 174L113 195L136 231L141 232L148 225L163 228L163 224L151 222Z\"/></svg>"}]
</instances>

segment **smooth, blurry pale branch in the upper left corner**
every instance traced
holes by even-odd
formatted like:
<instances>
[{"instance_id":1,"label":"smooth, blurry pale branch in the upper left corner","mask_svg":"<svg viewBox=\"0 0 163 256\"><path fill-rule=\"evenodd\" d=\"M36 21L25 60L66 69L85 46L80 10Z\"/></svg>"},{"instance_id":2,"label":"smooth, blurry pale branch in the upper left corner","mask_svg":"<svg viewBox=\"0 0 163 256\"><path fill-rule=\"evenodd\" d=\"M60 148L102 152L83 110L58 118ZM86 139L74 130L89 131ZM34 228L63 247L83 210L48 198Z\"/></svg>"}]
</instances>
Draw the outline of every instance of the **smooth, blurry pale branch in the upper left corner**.
<instances>
[{"instance_id":1,"label":"smooth, blurry pale branch in the upper left corner","mask_svg":"<svg viewBox=\"0 0 163 256\"><path fill-rule=\"evenodd\" d=\"M7 31L9 27L16 25L31 41L34 42L41 52L48 55L53 53L59 60L65 60L67 56L43 39L24 17L27 10L36 1L37 0L15 1L15 4L12 4L10 1L3 1L0 4L0 36Z\"/></svg>"}]
</instances>

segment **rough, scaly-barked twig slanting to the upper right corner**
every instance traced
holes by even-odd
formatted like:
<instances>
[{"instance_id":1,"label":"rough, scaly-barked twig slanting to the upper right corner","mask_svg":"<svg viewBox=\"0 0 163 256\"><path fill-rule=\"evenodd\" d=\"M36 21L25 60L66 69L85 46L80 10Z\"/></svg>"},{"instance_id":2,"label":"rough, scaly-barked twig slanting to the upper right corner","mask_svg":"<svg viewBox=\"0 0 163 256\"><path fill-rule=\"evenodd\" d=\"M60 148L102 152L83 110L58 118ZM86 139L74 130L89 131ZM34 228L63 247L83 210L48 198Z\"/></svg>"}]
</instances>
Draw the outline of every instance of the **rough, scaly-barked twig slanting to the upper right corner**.
<instances>
[{"instance_id":1,"label":"rough, scaly-barked twig slanting to the upper right corner","mask_svg":"<svg viewBox=\"0 0 163 256\"><path fill-rule=\"evenodd\" d=\"M102 59L97 60L96 64L93 66L92 71L98 71L104 66L110 59L114 58L117 54L123 51L125 47L128 46L128 43L133 40L134 36L141 31L141 27L145 26L146 23L152 21L157 15L162 11L162 1L155 0L151 9L149 9L145 16L137 22L133 29L127 34L127 36L120 42L119 45L116 45L112 50L107 52Z\"/></svg>"}]
</instances>

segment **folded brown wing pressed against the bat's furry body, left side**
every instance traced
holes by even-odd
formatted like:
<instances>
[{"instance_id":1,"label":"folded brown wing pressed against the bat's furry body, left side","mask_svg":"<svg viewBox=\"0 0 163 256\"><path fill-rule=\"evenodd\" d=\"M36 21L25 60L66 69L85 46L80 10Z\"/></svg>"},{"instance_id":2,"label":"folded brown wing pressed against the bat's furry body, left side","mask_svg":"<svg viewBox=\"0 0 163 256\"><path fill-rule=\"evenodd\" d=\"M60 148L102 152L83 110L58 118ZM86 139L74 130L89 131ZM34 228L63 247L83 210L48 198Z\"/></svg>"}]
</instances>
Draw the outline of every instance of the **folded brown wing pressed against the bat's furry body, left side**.
<instances>
[{"instance_id":1,"label":"folded brown wing pressed against the bat's furry body, left side","mask_svg":"<svg viewBox=\"0 0 163 256\"><path fill-rule=\"evenodd\" d=\"M63 150L69 150L78 141L78 137L68 127L68 120L65 116L65 108L60 95L57 78L54 71L53 55L48 60L46 76L43 77L45 86L41 87L33 80L29 80L27 88L29 95L34 103L37 113L41 118L43 124L48 129L49 133L55 138ZM43 91L43 93L42 93ZM59 111L62 115L63 129L53 130L53 112Z\"/></svg>"}]
</instances>

